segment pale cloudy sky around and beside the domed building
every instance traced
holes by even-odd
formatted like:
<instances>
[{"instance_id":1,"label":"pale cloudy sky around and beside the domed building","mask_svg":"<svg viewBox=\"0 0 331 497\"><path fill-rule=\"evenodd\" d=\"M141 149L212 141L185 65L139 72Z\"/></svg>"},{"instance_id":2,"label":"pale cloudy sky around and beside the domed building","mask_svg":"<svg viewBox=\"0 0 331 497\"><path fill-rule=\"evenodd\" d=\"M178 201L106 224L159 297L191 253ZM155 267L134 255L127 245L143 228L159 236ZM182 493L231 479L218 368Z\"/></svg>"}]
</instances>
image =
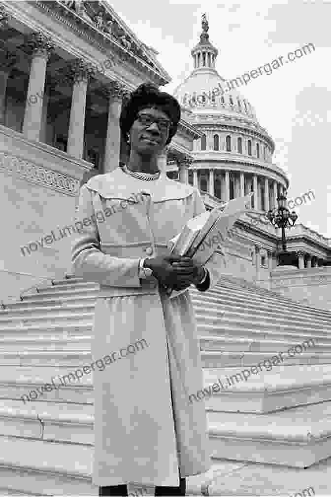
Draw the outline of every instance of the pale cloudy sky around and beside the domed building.
<instances>
[{"instance_id":1,"label":"pale cloudy sky around and beside the domed building","mask_svg":"<svg viewBox=\"0 0 331 497\"><path fill-rule=\"evenodd\" d=\"M216 0L217 1L217 0ZM315 52L238 87L275 142L272 162L288 174L287 198L314 191L315 200L295 210L303 223L331 237L331 0L242 1L110 0L138 38L159 52L172 77L172 93L193 70L206 12L209 40L218 49L216 70L240 76L308 43ZM329 75L329 77L328 77ZM329 134L328 134L329 133Z\"/></svg>"}]
</instances>

